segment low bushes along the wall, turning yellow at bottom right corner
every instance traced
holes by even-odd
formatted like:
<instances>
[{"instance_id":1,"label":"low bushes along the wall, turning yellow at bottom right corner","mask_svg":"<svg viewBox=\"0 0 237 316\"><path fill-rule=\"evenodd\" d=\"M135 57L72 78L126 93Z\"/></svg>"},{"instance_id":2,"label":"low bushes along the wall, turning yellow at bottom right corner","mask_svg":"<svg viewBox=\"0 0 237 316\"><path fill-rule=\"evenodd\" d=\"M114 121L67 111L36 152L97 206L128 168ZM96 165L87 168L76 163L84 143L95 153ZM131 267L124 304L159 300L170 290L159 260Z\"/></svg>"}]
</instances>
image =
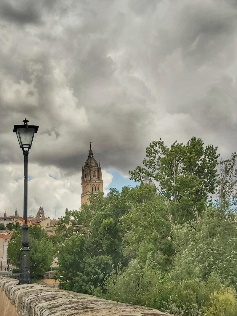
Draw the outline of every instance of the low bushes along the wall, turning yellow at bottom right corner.
<instances>
[{"instance_id":1,"label":"low bushes along the wall, turning yellow at bottom right corner","mask_svg":"<svg viewBox=\"0 0 237 316\"><path fill-rule=\"evenodd\" d=\"M218 275L202 279L173 279L163 275L149 257L145 264L132 260L124 271L104 282L105 299L157 308L176 316L237 316L236 292Z\"/></svg>"}]
</instances>

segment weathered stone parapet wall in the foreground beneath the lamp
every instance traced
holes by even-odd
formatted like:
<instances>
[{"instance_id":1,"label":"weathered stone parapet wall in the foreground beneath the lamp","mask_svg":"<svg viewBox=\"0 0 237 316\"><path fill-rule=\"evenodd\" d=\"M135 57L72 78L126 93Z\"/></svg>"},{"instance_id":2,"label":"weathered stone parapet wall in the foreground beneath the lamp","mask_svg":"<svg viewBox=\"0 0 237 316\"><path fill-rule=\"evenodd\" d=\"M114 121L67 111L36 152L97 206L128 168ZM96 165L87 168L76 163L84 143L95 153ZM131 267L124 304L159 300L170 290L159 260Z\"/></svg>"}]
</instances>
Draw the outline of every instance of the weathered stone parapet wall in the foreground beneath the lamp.
<instances>
[{"instance_id":1,"label":"weathered stone parapet wall in the foreground beneath the lamp","mask_svg":"<svg viewBox=\"0 0 237 316\"><path fill-rule=\"evenodd\" d=\"M18 280L0 276L1 316L171 316L153 308L107 301L40 284L17 283Z\"/></svg>"}]
</instances>

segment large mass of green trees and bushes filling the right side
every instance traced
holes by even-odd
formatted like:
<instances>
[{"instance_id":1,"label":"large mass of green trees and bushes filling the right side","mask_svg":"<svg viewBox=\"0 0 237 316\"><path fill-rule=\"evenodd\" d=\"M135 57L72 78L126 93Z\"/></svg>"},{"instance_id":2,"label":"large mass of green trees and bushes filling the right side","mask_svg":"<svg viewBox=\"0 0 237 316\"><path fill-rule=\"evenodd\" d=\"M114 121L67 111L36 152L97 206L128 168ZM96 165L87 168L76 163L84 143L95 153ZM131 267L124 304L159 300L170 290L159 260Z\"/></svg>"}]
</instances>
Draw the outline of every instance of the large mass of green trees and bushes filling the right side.
<instances>
[{"instance_id":1,"label":"large mass of green trees and bushes filling the right side","mask_svg":"<svg viewBox=\"0 0 237 316\"><path fill-rule=\"evenodd\" d=\"M94 192L66 209L50 238L63 288L177 316L237 316L237 155L218 157L195 137L153 142L130 175L157 187Z\"/></svg>"}]
</instances>

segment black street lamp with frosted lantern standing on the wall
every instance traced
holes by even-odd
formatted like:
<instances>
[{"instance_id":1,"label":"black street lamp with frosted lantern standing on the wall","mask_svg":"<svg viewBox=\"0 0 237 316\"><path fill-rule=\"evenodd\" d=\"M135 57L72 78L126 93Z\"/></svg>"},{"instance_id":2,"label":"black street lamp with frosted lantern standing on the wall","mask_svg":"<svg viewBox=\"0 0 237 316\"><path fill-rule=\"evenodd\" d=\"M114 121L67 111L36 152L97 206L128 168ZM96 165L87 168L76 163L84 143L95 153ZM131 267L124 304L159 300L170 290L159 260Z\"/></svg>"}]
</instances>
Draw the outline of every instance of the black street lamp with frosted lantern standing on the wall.
<instances>
[{"instance_id":1,"label":"black street lamp with frosted lantern standing on the wall","mask_svg":"<svg viewBox=\"0 0 237 316\"><path fill-rule=\"evenodd\" d=\"M18 284L30 284L30 248L28 239L27 225L27 181L28 181L28 154L31 148L34 134L37 133L39 126L28 125L28 120L24 119L24 125L14 125L13 133L16 133L24 155L24 221L22 226L21 239L21 270Z\"/></svg>"}]
</instances>

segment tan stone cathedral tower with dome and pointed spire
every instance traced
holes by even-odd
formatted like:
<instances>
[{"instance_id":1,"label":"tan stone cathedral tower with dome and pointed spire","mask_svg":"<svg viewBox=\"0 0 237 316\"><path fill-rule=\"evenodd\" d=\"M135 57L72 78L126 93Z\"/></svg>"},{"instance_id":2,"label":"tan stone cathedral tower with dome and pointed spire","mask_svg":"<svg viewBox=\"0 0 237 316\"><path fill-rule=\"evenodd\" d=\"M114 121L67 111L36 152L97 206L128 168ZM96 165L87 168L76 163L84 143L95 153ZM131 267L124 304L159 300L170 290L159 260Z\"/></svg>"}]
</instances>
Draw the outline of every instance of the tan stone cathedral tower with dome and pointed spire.
<instances>
[{"instance_id":1,"label":"tan stone cathedral tower with dome and pointed spire","mask_svg":"<svg viewBox=\"0 0 237 316\"><path fill-rule=\"evenodd\" d=\"M91 192L103 192L103 180L100 164L98 166L97 161L94 159L93 152L90 150L88 159L84 166L82 165L82 195L81 205L84 203L89 204L88 197Z\"/></svg>"}]
</instances>

